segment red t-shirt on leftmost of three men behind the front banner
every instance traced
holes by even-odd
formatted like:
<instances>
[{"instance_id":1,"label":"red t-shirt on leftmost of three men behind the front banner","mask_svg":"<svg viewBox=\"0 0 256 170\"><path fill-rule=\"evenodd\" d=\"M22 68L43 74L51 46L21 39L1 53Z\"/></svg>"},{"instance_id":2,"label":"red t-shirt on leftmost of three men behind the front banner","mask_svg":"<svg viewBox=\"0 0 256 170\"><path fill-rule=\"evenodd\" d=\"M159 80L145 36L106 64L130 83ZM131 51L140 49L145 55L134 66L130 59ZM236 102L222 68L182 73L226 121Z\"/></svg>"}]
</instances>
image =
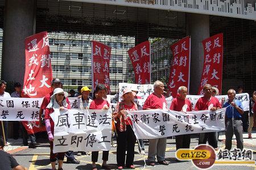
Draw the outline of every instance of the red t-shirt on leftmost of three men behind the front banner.
<instances>
[{"instance_id":1,"label":"red t-shirt on leftmost of three men behind the front banner","mask_svg":"<svg viewBox=\"0 0 256 170\"><path fill-rule=\"evenodd\" d=\"M163 108L163 105L165 105L165 108ZM145 109L166 109L167 103L166 98L161 95L161 97L158 97L155 95L155 93L152 93L149 95L144 102L143 110Z\"/></svg>"}]
</instances>

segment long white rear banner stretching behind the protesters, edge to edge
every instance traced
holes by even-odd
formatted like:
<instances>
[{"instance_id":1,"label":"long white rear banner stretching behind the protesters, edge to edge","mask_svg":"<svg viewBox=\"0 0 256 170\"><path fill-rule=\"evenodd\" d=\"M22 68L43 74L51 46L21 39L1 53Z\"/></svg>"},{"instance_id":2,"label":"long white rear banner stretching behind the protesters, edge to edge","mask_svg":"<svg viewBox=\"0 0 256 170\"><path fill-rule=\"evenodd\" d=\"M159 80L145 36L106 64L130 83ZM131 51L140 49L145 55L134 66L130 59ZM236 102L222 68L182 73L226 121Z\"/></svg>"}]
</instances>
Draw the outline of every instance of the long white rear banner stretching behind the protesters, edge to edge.
<instances>
[{"instance_id":1,"label":"long white rear banner stretching behind the protesters, edge to edge","mask_svg":"<svg viewBox=\"0 0 256 170\"><path fill-rule=\"evenodd\" d=\"M198 95L187 95L187 98L191 100L193 108L200 97L201 96ZM227 95L216 97L219 100L223 97L225 101L228 101ZM249 111L249 94L237 94L236 99L242 102L243 111ZM142 110L145 100L146 99L135 99L140 110ZM39 108L42 101L43 98L0 98L0 121L38 121ZM72 109L79 109L77 98L71 97L69 101ZM172 97L168 97L166 101L167 108L170 108ZM114 111L116 105L116 103L110 103L110 108Z\"/></svg>"}]
</instances>

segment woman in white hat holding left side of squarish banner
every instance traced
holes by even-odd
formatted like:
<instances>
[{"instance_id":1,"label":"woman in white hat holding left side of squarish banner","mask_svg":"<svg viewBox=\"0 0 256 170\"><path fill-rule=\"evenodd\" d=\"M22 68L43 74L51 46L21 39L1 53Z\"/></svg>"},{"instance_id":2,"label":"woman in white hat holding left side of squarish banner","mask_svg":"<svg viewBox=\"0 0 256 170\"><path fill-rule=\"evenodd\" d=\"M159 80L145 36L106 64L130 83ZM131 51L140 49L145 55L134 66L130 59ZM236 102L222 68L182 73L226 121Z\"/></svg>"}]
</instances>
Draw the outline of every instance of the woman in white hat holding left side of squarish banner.
<instances>
[{"instance_id":1,"label":"woman in white hat holding left side of squarish banner","mask_svg":"<svg viewBox=\"0 0 256 170\"><path fill-rule=\"evenodd\" d=\"M66 97L68 97L67 92L64 92L62 88L55 88L55 90L53 91L53 95L51 96L51 101L46 108L46 112L44 116L44 119L46 122L46 130L47 130L48 139L50 143L50 150L51 150L50 161L51 161L52 169L56 169L55 168L56 159L58 159L58 162L59 162L58 169L62 169L65 152L57 152L53 154L54 122L50 114L54 112L53 109L64 110L64 109L71 108L69 103L67 103L67 101L65 100Z\"/></svg>"}]
</instances>

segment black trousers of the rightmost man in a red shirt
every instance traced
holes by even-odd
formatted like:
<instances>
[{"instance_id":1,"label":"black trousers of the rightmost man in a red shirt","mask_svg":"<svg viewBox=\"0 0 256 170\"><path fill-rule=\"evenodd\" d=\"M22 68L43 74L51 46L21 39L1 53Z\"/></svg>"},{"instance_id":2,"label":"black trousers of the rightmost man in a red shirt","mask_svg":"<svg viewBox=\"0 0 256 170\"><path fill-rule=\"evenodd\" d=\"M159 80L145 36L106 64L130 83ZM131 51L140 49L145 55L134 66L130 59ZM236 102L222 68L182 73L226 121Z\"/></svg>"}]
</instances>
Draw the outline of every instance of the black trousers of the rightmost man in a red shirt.
<instances>
[{"instance_id":1,"label":"black trousers of the rightmost man in a red shirt","mask_svg":"<svg viewBox=\"0 0 256 170\"><path fill-rule=\"evenodd\" d=\"M199 142L198 144L206 144L207 140L210 146L213 148L218 147L218 141L216 139L216 133L217 132L208 132L208 133L200 133L199 134Z\"/></svg>"}]
</instances>

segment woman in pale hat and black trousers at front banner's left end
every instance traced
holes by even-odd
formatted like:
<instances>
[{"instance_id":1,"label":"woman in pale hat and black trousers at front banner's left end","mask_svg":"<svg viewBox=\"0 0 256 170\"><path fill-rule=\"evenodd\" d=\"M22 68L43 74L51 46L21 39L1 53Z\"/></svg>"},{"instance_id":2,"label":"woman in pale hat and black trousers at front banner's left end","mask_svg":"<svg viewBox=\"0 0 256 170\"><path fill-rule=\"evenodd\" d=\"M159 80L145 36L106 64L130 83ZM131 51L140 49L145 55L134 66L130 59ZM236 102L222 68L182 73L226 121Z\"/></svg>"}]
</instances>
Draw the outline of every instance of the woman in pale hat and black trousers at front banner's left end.
<instances>
[{"instance_id":1,"label":"woman in pale hat and black trousers at front banner's left end","mask_svg":"<svg viewBox=\"0 0 256 170\"><path fill-rule=\"evenodd\" d=\"M117 121L117 166L123 169L125 165L125 151L127 146L126 167L134 169L134 146L136 137L134 135L130 117L126 117L126 111L137 111L137 104L134 102L134 92L130 88L123 90L122 101L117 104L115 120Z\"/></svg>"}]
</instances>

